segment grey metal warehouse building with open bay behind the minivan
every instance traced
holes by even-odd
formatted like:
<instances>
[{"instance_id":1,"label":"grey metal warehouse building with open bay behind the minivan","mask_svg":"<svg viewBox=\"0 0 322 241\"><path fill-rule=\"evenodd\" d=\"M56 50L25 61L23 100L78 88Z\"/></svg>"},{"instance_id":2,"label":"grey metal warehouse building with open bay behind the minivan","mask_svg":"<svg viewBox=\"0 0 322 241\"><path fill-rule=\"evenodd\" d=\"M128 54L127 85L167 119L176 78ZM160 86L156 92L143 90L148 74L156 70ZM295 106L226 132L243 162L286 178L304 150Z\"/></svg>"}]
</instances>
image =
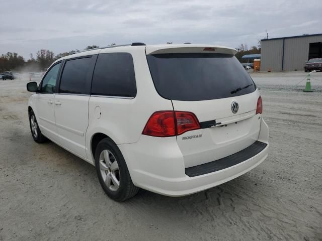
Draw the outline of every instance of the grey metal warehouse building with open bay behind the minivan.
<instances>
[{"instance_id":1,"label":"grey metal warehouse building with open bay behind the minivan","mask_svg":"<svg viewBox=\"0 0 322 241\"><path fill-rule=\"evenodd\" d=\"M322 34L262 39L261 71L304 70L305 61L322 57Z\"/></svg>"}]
</instances>

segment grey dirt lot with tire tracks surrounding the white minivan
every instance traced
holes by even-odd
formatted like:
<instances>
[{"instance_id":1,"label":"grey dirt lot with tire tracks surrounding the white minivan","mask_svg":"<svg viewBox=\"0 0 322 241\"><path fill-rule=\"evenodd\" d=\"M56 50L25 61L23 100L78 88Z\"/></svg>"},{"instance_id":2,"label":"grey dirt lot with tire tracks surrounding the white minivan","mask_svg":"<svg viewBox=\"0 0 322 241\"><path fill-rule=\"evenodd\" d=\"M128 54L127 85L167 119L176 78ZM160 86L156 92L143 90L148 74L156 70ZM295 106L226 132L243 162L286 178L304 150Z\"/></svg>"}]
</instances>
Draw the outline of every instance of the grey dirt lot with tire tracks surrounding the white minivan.
<instances>
[{"instance_id":1,"label":"grey dirt lot with tire tracks surrounding the white minivan","mask_svg":"<svg viewBox=\"0 0 322 241\"><path fill-rule=\"evenodd\" d=\"M322 240L322 73L252 73L270 128L251 172L194 195L110 200L93 166L30 134L27 80L0 80L0 240Z\"/></svg>"}]
</instances>

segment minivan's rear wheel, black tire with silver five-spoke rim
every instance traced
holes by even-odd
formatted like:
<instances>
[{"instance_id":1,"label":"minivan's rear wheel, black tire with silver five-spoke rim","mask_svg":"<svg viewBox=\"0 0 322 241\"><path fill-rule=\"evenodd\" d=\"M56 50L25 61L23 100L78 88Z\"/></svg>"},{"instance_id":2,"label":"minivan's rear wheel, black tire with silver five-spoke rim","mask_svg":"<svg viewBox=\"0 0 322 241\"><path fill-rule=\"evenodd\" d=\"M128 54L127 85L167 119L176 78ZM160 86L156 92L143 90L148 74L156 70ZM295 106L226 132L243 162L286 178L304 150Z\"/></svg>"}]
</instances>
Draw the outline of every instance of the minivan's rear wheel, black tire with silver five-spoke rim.
<instances>
[{"instance_id":1,"label":"minivan's rear wheel, black tire with silver five-spoke rim","mask_svg":"<svg viewBox=\"0 0 322 241\"><path fill-rule=\"evenodd\" d=\"M120 149L109 138L97 145L95 166L103 190L113 200L124 201L138 192L139 188L132 182Z\"/></svg>"}]
</instances>

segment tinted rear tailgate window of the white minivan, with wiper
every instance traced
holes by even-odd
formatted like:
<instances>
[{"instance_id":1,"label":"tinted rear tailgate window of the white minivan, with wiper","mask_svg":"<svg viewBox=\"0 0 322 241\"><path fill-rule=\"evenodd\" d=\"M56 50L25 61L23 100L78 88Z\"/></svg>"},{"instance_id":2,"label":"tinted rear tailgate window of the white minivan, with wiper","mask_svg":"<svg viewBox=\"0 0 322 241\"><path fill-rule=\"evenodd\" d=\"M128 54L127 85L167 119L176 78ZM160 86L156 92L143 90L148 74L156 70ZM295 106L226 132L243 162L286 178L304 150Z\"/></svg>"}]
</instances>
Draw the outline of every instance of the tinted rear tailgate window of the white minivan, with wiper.
<instances>
[{"instance_id":1,"label":"tinted rear tailgate window of the white minivan, with wiper","mask_svg":"<svg viewBox=\"0 0 322 241\"><path fill-rule=\"evenodd\" d=\"M209 100L252 93L256 85L243 65L228 54L147 55L157 92L173 100Z\"/></svg>"}]
</instances>

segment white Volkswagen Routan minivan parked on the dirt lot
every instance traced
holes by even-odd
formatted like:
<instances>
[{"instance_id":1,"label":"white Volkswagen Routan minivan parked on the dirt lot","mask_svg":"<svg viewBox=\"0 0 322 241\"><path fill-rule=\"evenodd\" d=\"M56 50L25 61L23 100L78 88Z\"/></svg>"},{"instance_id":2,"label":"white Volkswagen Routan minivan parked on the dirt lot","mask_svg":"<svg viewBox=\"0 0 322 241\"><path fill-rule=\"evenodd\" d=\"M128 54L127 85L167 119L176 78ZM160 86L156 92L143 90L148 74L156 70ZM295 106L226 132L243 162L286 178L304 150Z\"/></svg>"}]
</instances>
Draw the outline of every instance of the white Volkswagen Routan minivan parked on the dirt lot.
<instances>
[{"instance_id":1,"label":"white Volkswagen Routan minivan parked on the dirt lot","mask_svg":"<svg viewBox=\"0 0 322 241\"><path fill-rule=\"evenodd\" d=\"M133 43L56 60L27 84L33 139L96 167L109 197L183 196L259 165L262 98L232 48Z\"/></svg>"}]
</instances>

